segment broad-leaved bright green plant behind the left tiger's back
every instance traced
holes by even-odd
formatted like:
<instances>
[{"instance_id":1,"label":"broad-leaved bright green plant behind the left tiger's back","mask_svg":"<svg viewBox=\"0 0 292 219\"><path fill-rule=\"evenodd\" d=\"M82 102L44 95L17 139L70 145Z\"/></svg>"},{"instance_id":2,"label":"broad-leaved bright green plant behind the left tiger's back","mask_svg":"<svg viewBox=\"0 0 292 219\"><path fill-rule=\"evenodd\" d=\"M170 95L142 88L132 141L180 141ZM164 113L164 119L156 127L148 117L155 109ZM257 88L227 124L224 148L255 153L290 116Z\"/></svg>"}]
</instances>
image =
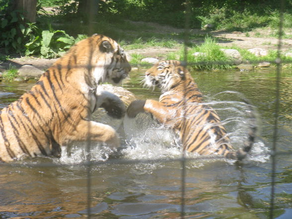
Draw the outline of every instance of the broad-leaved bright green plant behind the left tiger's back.
<instances>
[{"instance_id":1,"label":"broad-leaved bright green plant behind the left tiger's back","mask_svg":"<svg viewBox=\"0 0 292 219\"><path fill-rule=\"evenodd\" d=\"M78 41L86 38L86 35L79 34L77 38L68 35L64 30L43 30L40 35L31 35L28 43L25 44L25 55L35 55L41 58L57 58L63 56L66 51Z\"/></svg>"}]
</instances>

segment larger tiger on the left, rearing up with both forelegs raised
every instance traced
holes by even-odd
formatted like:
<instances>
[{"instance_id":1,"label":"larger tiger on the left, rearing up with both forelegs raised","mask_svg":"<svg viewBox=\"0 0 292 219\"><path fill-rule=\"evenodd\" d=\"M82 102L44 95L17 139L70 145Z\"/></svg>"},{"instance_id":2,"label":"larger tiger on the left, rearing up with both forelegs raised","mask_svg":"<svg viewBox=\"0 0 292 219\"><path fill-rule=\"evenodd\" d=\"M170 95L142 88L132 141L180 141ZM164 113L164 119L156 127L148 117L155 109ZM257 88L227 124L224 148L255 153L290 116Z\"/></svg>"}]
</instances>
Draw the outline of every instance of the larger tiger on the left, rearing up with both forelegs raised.
<instances>
[{"instance_id":1,"label":"larger tiger on the left, rearing up with both forelegs raised","mask_svg":"<svg viewBox=\"0 0 292 219\"><path fill-rule=\"evenodd\" d=\"M96 108L122 118L126 107L98 84L119 84L131 71L126 54L113 39L93 34L59 58L30 91L0 111L0 161L61 156L74 142L120 146L116 131L91 121Z\"/></svg>"}]
</instances>

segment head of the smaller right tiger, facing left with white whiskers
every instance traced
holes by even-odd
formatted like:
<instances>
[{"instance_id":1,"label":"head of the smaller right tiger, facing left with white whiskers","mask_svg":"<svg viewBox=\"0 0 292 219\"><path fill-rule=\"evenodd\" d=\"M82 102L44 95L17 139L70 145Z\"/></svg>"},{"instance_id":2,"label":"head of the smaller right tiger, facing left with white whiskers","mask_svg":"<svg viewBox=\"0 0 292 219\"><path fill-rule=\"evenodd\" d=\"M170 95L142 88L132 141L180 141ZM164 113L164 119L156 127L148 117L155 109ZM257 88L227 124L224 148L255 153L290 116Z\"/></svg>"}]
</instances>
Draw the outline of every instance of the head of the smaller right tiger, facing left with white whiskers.
<instances>
[{"instance_id":1,"label":"head of the smaller right tiger, facing left with white whiskers","mask_svg":"<svg viewBox=\"0 0 292 219\"><path fill-rule=\"evenodd\" d=\"M144 83L148 87L158 86L163 93L188 76L185 63L175 60L160 61L146 71Z\"/></svg>"}]
</instances>

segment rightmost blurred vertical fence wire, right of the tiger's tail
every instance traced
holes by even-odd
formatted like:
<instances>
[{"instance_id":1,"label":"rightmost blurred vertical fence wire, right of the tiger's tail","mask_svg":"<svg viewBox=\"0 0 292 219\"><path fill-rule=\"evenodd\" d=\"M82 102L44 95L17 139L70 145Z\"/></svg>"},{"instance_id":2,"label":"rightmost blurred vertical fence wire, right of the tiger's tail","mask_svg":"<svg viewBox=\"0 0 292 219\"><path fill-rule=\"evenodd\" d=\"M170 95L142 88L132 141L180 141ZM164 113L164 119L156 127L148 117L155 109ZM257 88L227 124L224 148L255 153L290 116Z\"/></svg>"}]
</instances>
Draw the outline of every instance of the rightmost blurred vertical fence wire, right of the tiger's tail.
<instances>
[{"instance_id":1,"label":"rightmost blurred vertical fence wire, right of the tiger's tail","mask_svg":"<svg viewBox=\"0 0 292 219\"><path fill-rule=\"evenodd\" d=\"M275 202L275 178L276 178L276 152L277 152L277 139L278 139L278 116L280 109L280 77L281 77L281 47L283 36L283 11L284 0L280 2L280 22L279 22L279 41L277 49L277 75L276 75L276 103L275 103L275 121L274 121L274 133L273 133L273 148L272 148L272 180L271 180L271 204L270 204L270 219L274 217L274 202Z\"/></svg>"}]
</instances>

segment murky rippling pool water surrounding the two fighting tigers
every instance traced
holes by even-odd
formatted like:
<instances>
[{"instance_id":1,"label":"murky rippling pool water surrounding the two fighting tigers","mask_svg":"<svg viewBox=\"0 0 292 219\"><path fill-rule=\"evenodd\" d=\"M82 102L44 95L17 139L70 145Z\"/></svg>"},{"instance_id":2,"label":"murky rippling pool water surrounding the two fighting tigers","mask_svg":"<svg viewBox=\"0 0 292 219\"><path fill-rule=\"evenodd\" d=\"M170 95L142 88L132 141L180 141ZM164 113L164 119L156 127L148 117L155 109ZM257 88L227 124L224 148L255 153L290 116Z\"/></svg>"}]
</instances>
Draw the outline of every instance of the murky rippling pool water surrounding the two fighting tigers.
<instances>
[{"instance_id":1,"label":"murky rippling pool water surrounding the two fighting tigers","mask_svg":"<svg viewBox=\"0 0 292 219\"><path fill-rule=\"evenodd\" d=\"M275 70L255 72L195 72L193 76L206 102L216 108L234 147L246 137L248 119L237 95L244 94L259 113L261 133L241 164L225 159L186 162L186 219L268 219L271 160L275 113ZM139 98L158 99L158 90L141 88L140 74L132 73L123 86ZM0 84L0 107L17 99L29 84ZM278 151L291 151L292 73L281 79ZM173 133L139 115L137 123L126 120L123 148L118 160L163 159L163 162L106 163L115 160L103 146L92 148L91 218L177 219L181 211L181 162ZM137 128L138 126L138 128ZM136 127L136 129L135 129ZM142 131L141 131L142 130ZM121 131L121 130L120 130ZM123 130L122 130L123 132ZM158 137L157 137L158 136ZM87 170L82 146L69 148L61 159L36 158L20 163L68 164L62 167L0 166L0 219L80 219L87 216ZM292 218L292 155L278 156L274 216ZM75 163L70 166L69 164ZM77 164L76 164L77 163Z\"/></svg>"}]
</instances>

